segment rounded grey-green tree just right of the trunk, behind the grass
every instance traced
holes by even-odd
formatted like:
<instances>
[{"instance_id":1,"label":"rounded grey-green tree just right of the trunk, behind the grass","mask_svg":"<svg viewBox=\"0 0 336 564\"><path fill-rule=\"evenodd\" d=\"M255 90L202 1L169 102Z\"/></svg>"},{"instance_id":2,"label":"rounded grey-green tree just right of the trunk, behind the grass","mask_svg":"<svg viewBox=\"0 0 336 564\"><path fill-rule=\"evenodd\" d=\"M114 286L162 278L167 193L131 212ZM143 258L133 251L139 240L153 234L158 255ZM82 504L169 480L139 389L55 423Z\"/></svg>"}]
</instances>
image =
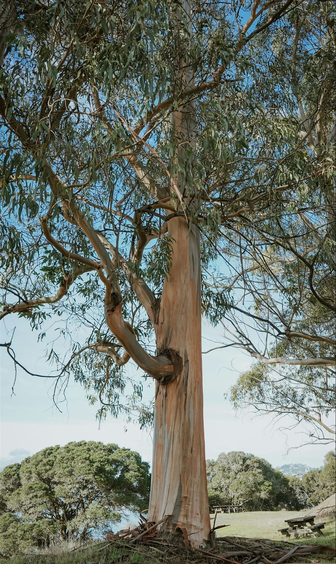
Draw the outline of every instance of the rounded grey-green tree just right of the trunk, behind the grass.
<instances>
[{"instance_id":1,"label":"rounded grey-green tree just right of the trunk, behind the grass","mask_svg":"<svg viewBox=\"0 0 336 564\"><path fill-rule=\"evenodd\" d=\"M245 452L222 452L216 461L207 461L209 499L225 504L242 504L250 511L301 509L298 488L264 459ZM295 483L295 486L297 484ZM216 499L217 494L217 499ZM218 505L221 505L219 502Z\"/></svg>"}]
</instances>

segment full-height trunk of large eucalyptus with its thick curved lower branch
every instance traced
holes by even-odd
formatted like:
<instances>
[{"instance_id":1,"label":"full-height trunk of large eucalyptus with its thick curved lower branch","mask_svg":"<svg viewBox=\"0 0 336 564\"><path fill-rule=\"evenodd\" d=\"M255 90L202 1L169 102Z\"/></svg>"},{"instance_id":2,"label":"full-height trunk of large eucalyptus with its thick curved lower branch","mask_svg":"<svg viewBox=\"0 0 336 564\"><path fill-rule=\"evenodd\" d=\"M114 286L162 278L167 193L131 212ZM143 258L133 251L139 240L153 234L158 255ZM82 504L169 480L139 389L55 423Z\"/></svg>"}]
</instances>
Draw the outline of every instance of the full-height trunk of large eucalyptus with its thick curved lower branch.
<instances>
[{"instance_id":1,"label":"full-height trunk of large eucalyptus with its thick curved lower branch","mask_svg":"<svg viewBox=\"0 0 336 564\"><path fill-rule=\"evenodd\" d=\"M195 83L187 57L188 45L183 39L183 25L188 27L190 23L188 0L183 0L178 12L172 14L172 21L178 64L176 91L181 92ZM189 38L191 41L192 30ZM111 297L107 295L105 302L111 332L138 366L156 380L147 519L158 522L167 518L160 525L161 532L183 534L192 547L204 545L210 533L203 423L200 240L198 228L183 214L183 206L189 215L197 207L196 187L187 175L192 167L195 131L195 104L186 100L172 112L171 139L175 151L170 162L168 193L177 204L178 215L168 220L171 267L164 280L159 312L156 302L152 312L146 308L156 333L155 358L142 349L124 322L119 291ZM142 303L146 301L142 299Z\"/></svg>"}]
</instances>

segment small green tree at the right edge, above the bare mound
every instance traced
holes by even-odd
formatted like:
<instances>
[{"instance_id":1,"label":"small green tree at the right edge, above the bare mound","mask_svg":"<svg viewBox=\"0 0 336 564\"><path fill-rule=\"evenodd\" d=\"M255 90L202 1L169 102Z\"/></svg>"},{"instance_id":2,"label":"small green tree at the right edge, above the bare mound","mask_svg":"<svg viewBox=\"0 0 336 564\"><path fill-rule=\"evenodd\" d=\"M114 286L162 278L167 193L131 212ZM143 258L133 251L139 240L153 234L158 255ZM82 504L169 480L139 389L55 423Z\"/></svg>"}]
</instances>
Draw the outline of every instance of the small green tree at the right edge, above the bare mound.
<instances>
[{"instance_id":1,"label":"small green tree at the right edge, above the bare mound","mask_svg":"<svg viewBox=\"0 0 336 564\"><path fill-rule=\"evenodd\" d=\"M302 485L307 493L307 505L313 507L335 493L336 456L334 451L325 455L321 470L310 470L304 474Z\"/></svg>"}]
</instances>

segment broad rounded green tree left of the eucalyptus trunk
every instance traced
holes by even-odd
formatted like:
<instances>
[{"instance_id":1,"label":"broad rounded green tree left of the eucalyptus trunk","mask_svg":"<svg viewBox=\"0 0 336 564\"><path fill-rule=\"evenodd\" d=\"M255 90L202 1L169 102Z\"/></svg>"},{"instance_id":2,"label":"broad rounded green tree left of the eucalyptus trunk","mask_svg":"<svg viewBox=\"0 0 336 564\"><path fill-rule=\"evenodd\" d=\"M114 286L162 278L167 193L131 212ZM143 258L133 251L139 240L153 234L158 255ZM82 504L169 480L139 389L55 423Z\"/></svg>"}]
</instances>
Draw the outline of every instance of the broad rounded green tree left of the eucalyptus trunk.
<instances>
[{"instance_id":1,"label":"broad rounded green tree left of the eucalyptus trunk","mask_svg":"<svg viewBox=\"0 0 336 564\"><path fill-rule=\"evenodd\" d=\"M87 537L120 521L122 508L144 509L149 487L149 464L127 448L94 441L44 448L0 473L0 550L7 554L13 537L35 547L55 535Z\"/></svg>"}]
</instances>

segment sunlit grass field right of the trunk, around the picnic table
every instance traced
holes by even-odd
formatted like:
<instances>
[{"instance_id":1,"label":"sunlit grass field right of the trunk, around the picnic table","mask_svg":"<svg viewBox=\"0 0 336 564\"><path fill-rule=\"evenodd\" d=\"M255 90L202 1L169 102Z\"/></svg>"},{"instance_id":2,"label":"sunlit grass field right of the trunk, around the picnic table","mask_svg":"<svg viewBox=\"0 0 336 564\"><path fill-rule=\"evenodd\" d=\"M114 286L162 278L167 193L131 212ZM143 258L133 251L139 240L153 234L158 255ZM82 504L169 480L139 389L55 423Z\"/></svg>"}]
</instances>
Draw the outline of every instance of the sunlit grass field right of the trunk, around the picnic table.
<instances>
[{"instance_id":1,"label":"sunlit grass field right of the trunk, around the picnic table","mask_svg":"<svg viewBox=\"0 0 336 564\"><path fill-rule=\"evenodd\" d=\"M245 536L249 538L264 538L271 540L285 540L277 530L286 526L285 519L302 515L302 512L295 511L254 511L245 513L218 513L216 518L216 527L218 525L230 525L218 529L217 536ZM214 515L210 515L213 523ZM326 521L326 519L321 519ZM309 539L316 542L319 540L322 544L329 544L329 541L335 546L335 521L331 521L325 525L323 537L319 539ZM327 542L328 539L328 542ZM308 544L307 538L304 544ZM291 539L292 542L292 539ZM301 543L303 540L300 541Z\"/></svg>"}]
</instances>

